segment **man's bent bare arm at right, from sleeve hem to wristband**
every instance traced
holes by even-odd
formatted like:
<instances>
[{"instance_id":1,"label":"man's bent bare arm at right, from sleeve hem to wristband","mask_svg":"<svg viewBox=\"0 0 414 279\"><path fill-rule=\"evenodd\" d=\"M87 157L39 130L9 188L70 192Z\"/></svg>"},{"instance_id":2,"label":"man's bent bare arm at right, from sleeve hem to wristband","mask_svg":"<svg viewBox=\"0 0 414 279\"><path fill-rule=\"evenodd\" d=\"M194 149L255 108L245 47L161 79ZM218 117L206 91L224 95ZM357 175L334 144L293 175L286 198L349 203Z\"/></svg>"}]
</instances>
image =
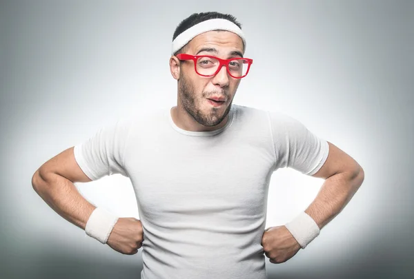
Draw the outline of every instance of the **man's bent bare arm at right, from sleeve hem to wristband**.
<instances>
[{"instance_id":1,"label":"man's bent bare arm at right, from sleeve hem to wristband","mask_svg":"<svg viewBox=\"0 0 414 279\"><path fill-rule=\"evenodd\" d=\"M364 181L364 170L348 154L329 143L329 154L326 162L314 174L314 177L325 178L315 200L305 210L319 229L328 224L351 200Z\"/></svg>"}]
</instances>

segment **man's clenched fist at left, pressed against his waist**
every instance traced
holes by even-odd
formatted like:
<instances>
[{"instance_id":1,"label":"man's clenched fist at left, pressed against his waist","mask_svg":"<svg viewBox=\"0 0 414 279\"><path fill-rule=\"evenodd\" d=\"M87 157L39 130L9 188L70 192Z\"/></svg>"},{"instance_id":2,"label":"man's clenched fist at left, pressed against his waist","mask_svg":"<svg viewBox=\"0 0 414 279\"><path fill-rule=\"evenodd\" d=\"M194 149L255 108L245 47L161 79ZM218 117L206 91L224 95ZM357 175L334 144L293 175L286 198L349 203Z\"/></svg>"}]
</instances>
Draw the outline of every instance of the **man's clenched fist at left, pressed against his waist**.
<instances>
[{"instance_id":1,"label":"man's clenched fist at left, pressed against his waist","mask_svg":"<svg viewBox=\"0 0 414 279\"><path fill-rule=\"evenodd\" d=\"M121 254L134 255L142 247L144 231L136 218L119 218L106 244Z\"/></svg>"}]
</instances>

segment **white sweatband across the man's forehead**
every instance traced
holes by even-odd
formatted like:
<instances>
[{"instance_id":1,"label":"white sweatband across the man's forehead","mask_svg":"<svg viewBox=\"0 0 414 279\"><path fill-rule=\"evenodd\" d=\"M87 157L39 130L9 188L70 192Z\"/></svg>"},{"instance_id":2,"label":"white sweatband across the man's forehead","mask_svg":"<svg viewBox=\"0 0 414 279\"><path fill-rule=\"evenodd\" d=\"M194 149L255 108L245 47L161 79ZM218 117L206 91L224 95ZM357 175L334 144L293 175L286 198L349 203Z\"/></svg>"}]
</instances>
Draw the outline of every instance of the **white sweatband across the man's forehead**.
<instances>
[{"instance_id":1,"label":"white sweatband across the man's forehead","mask_svg":"<svg viewBox=\"0 0 414 279\"><path fill-rule=\"evenodd\" d=\"M228 21L227 19L208 19L207 21L197 23L179 34L175 40L172 41L171 54L174 55L177 50L184 47L184 45L186 45L197 35L213 30L226 30L239 35L239 37L243 40L244 49L246 50L246 39L244 38L242 29L240 29L239 26L235 25L235 23L231 21Z\"/></svg>"}]
</instances>

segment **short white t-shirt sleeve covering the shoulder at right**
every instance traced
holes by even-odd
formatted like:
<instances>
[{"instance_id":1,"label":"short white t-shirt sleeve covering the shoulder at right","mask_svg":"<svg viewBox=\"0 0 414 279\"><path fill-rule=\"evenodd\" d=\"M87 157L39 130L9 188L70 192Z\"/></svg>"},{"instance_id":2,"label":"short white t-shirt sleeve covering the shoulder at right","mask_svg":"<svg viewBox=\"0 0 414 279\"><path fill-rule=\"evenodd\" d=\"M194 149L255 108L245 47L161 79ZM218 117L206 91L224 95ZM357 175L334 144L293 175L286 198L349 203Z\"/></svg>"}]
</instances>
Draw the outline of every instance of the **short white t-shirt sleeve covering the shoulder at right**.
<instances>
[{"instance_id":1,"label":"short white t-shirt sleeve covering the shoulder at right","mask_svg":"<svg viewBox=\"0 0 414 279\"><path fill-rule=\"evenodd\" d=\"M329 145L297 119L282 112L268 112L275 146L275 169L291 167L312 176L328 158Z\"/></svg>"}]
</instances>

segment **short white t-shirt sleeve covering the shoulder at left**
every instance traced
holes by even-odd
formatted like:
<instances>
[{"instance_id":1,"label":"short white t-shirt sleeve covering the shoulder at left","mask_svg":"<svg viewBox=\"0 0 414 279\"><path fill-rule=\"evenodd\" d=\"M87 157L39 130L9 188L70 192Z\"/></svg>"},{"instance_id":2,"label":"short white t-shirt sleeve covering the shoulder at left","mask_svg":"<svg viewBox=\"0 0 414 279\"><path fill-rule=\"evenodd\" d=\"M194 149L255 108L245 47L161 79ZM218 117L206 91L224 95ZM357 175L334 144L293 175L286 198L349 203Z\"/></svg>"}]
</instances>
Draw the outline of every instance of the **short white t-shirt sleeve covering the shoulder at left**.
<instances>
[{"instance_id":1,"label":"short white t-shirt sleeve covering the shoulder at left","mask_svg":"<svg viewBox=\"0 0 414 279\"><path fill-rule=\"evenodd\" d=\"M121 174L128 177L124 166L124 152L130 130L130 120L117 121L101 127L88 140L75 145L75 160L91 180Z\"/></svg>"}]
</instances>

